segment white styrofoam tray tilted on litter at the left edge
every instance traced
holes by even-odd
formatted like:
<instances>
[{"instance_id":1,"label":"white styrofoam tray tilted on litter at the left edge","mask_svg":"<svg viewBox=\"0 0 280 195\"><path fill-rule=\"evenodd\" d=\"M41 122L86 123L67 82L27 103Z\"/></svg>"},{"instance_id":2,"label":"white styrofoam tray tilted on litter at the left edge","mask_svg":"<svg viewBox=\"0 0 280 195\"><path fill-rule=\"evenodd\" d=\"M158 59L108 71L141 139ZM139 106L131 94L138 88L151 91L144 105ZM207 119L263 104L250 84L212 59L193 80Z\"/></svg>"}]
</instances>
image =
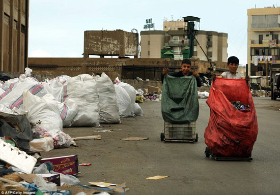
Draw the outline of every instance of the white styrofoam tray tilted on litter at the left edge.
<instances>
[{"instance_id":1,"label":"white styrofoam tray tilted on litter at the left edge","mask_svg":"<svg viewBox=\"0 0 280 195\"><path fill-rule=\"evenodd\" d=\"M32 173L37 159L0 139L0 159L9 165Z\"/></svg>"}]
</instances>

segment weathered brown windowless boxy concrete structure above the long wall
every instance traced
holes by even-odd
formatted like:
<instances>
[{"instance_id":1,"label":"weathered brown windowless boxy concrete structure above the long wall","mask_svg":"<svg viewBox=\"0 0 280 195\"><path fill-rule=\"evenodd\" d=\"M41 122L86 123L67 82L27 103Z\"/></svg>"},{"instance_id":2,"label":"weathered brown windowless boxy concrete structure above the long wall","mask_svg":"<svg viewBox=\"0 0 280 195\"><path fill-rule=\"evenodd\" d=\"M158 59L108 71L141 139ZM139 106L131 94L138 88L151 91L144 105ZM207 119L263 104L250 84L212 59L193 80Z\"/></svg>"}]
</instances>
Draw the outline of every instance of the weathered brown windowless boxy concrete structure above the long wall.
<instances>
[{"instance_id":1,"label":"weathered brown windowless boxy concrete structure above the long wall","mask_svg":"<svg viewBox=\"0 0 280 195\"><path fill-rule=\"evenodd\" d=\"M85 31L83 56L138 57L138 34L124 30Z\"/></svg>"}]
</instances>

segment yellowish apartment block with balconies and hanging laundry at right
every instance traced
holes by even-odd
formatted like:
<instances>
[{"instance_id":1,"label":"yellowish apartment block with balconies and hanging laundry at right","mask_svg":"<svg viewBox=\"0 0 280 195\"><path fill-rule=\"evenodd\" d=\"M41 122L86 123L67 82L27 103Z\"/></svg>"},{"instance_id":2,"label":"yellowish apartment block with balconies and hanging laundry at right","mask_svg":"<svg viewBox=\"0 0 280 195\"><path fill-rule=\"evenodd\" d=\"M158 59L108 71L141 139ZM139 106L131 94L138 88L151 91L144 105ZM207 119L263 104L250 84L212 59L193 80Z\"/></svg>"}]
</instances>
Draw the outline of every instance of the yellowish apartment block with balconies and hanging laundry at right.
<instances>
[{"instance_id":1,"label":"yellowish apartment block with balconies and hanging laundry at right","mask_svg":"<svg viewBox=\"0 0 280 195\"><path fill-rule=\"evenodd\" d=\"M248 9L247 63L251 76L269 76L270 64L280 63L280 8Z\"/></svg>"}]
</instances>

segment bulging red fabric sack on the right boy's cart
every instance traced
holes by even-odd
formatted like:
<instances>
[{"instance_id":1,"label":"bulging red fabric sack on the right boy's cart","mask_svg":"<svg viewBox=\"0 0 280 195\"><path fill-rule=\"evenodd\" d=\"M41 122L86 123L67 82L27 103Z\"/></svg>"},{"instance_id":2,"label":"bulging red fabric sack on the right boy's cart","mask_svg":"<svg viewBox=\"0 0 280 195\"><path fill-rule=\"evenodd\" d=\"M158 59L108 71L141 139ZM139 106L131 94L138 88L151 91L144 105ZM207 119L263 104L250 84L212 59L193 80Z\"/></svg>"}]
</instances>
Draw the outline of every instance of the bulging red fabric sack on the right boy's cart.
<instances>
[{"instance_id":1,"label":"bulging red fabric sack on the right boy's cart","mask_svg":"<svg viewBox=\"0 0 280 195\"><path fill-rule=\"evenodd\" d=\"M237 110L231 104L237 101L249 105L249 109ZM210 118L204 138L212 153L225 157L251 154L257 140L258 121L246 80L216 78L206 103Z\"/></svg>"}]
</instances>

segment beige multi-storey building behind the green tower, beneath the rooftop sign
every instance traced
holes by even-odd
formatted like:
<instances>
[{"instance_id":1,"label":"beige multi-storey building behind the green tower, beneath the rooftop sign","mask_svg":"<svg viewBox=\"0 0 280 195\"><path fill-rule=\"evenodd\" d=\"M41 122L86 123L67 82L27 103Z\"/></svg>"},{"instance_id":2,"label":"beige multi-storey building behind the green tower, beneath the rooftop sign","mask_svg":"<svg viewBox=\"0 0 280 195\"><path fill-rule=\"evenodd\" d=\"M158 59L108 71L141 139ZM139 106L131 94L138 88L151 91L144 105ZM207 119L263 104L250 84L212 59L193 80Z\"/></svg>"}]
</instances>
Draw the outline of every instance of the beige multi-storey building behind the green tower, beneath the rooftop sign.
<instances>
[{"instance_id":1,"label":"beige multi-storey building behind the green tower, beneath the rooftop sign","mask_svg":"<svg viewBox=\"0 0 280 195\"><path fill-rule=\"evenodd\" d=\"M160 58L162 47L170 46L174 50L174 59L182 59L181 49L189 45L184 28L184 21L164 21L163 30L141 31L141 57ZM228 34L200 30L196 38L211 61L227 61ZM197 41L194 41L193 51L195 57L207 61Z\"/></svg>"}]
</instances>

